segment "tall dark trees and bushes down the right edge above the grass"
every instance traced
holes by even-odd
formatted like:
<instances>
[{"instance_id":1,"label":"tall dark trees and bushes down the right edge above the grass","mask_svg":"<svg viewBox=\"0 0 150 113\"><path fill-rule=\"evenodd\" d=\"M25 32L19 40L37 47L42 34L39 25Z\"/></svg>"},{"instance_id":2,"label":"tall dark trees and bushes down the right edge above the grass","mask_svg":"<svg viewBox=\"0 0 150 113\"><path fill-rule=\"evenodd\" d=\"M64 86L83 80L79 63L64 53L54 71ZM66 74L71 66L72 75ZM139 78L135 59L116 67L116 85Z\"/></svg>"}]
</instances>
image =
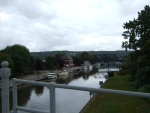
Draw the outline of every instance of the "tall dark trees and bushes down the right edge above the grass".
<instances>
[{"instance_id":1,"label":"tall dark trees and bushes down the right edge above the grass","mask_svg":"<svg viewBox=\"0 0 150 113\"><path fill-rule=\"evenodd\" d=\"M140 89L148 88L150 92L150 6L146 5L138 12L138 17L123 25L122 47L128 55L123 65L123 72L129 73L134 85Z\"/></svg>"}]
</instances>

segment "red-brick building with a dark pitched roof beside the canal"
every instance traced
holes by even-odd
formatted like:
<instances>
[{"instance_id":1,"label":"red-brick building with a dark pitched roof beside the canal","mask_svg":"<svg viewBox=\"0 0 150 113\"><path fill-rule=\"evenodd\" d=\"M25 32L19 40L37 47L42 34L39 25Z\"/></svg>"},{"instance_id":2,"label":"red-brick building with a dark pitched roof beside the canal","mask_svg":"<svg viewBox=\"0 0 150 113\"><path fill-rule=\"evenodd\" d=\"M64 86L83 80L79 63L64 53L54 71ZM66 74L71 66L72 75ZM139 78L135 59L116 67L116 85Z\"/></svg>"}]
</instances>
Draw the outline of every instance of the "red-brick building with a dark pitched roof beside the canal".
<instances>
[{"instance_id":1,"label":"red-brick building with a dark pitched roof beside the canal","mask_svg":"<svg viewBox=\"0 0 150 113\"><path fill-rule=\"evenodd\" d=\"M69 55L64 55L61 57L61 59L64 62L64 67L73 67L73 58L71 58Z\"/></svg>"}]
</instances>

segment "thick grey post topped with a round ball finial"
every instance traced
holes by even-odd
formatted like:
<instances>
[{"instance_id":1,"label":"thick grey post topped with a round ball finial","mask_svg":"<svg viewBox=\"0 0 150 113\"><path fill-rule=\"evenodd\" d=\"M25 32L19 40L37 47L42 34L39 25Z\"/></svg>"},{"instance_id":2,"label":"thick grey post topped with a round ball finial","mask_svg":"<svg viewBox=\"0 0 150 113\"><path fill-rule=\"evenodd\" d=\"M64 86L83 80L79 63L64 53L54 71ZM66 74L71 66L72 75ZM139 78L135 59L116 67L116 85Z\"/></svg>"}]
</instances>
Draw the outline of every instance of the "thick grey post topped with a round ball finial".
<instances>
[{"instance_id":1,"label":"thick grey post topped with a round ball finial","mask_svg":"<svg viewBox=\"0 0 150 113\"><path fill-rule=\"evenodd\" d=\"M9 63L3 61L1 63L2 68L0 69L1 77L1 97L2 97L2 113L10 113L9 110L9 76L10 68L8 68Z\"/></svg>"}]
</instances>

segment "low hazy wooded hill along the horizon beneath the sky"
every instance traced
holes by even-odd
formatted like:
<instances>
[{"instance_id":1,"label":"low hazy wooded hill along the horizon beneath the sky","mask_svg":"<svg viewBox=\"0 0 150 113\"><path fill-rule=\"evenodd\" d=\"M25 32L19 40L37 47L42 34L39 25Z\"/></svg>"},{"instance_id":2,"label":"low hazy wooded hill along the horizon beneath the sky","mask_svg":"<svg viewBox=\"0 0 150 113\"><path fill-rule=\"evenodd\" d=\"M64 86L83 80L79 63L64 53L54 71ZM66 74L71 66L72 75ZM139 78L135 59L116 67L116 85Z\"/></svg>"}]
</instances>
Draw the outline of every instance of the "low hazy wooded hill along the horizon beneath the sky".
<instances>
[{"instance_id":1,"label":"low hazy wooded hill along the horizon beneath the sky","mask_svg":"<svg viewBox=\"0 0 150 113\"><path fill-rule=\"evenodd\" d=\"M55 54L68 54L70 56L75 56L79 53L82 53L84 51L43 51L43 52L31 52L31 55L33 57L44 59L48 56L55 55ZM123 50L117 50L117 51L87 51L92 54L115 54L118 57L122 58L124 56L127 56L132 51L123 51Z\"/></svg>"}]
</instances>

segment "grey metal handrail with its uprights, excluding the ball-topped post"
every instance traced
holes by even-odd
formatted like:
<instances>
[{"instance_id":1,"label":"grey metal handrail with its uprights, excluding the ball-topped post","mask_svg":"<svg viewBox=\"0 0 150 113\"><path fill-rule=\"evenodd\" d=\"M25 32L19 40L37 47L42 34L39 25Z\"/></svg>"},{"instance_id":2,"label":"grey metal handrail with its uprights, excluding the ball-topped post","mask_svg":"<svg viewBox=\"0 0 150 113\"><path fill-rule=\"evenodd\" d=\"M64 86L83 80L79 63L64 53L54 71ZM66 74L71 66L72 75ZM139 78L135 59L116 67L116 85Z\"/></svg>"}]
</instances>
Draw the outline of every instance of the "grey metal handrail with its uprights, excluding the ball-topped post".
<instances>
[{"instance_id":1,"label":"grey metal handrail with its uprights, excluding the ball-topped post","mask_svg":"<svg viewBox=\"0 0 150 113\"><path fill-rule=\"evenodd\" d=\"M112 90L112 89L104 89L104 88L89 88L89 87L81 87L81 86L69 86L69 85L63 85L63 84L56 84L54 82L45 83L45 82L21 80L21 79L15 79L15 78L12 80L12 82L13 82L13 85L12 85L12 88L13 88L13 113L17 113L17 110L28 111L28 112L32 112L32 113L48 113L48 112L44 112L44 111L38 111L38 110L18 106L17 105L17 83L49 87L49 89L51 91L50 92L50 113L56 113L55 88L150 98L149 93L141 93L141 92Z\"/></svg>"}]
</instances>

